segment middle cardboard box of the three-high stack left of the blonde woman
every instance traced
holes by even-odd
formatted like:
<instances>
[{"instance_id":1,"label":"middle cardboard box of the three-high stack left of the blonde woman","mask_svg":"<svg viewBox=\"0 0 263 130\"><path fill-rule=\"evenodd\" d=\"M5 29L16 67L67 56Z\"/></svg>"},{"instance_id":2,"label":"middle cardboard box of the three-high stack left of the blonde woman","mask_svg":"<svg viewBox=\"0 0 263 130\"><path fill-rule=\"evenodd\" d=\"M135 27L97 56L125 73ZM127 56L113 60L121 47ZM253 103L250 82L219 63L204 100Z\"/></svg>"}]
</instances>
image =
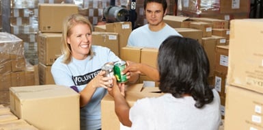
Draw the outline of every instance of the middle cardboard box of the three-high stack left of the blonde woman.
<instances>
[{"instance_id":1,"label":"middle cardboard box of the three-high stack left of the blonde woman","mask_svg":"<svg viewBox=\"0 0 263 130\"><path fill-rule=\"evenodd\" d=\"M61 55L61 33L38 34L38 61L45 65L52 65Z\"/></svg>"}]
</instances>

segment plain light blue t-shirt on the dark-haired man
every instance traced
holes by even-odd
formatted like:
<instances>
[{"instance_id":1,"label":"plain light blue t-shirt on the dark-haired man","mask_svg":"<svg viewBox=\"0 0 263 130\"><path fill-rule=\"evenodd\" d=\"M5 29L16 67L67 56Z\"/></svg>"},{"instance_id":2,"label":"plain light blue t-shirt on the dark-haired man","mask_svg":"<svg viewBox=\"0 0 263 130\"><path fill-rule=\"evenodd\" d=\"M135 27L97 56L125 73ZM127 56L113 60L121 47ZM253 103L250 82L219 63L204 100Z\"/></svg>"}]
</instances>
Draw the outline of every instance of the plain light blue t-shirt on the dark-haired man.
<instances>
[{"instance_id":1,"label":"plain light blue t-shirt on the dark-haired man","mask_svg":"<svg viewBox=\"0 0 263 130\"><path fill-rule=\"evenodd\" d=\"M163 40L169 36L181 36L181 34L167 24L159 31L151 31L147 24L134 29L130 33L127 46L158 49Z\"/></svg>"}]
</instances>

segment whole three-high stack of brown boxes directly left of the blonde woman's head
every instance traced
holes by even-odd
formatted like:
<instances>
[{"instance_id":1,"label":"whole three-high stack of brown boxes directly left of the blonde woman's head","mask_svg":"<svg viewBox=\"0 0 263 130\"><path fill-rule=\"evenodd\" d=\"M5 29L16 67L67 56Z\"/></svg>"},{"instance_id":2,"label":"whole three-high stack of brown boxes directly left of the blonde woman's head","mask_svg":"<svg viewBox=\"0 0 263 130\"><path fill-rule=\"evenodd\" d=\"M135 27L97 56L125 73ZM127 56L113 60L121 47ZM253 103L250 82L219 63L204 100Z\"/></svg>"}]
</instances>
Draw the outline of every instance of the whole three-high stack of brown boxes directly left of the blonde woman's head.
<instances>
[{"instance_id":1,"label":"whole three-high stack of brown boxes directly left of the blonde woman's head","mask_svg":"<svg viewBox=\"0 0 263 130\"><path fill-rule=\"evenodd\" d=\"M66 16L77 14L74 4L41 3L38 5L38 57L40 84L55 84L51 65L61 55L62 23Z\"/></svg>"}]
</instances>

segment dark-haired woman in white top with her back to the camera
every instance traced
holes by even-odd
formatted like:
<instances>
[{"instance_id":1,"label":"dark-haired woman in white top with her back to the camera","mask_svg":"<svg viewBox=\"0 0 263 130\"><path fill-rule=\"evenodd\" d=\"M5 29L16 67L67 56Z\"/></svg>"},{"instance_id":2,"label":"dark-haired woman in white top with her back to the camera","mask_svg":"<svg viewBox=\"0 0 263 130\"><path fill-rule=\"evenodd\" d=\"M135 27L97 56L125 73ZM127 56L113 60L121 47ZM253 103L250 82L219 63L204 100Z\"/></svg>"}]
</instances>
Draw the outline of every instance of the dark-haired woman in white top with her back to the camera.
<instances>
[{"instance_id":1,"label":"dark-haired woman in white top with her back to the camera","mask_svg":"<svg viewBox=\"0 0 263 130\"><path fill-rule=\"evenodd\" d=\"M130 108L124 84L113 79L108 90L120 122L132 129L215 130L221 123L220 98L208 85L208 74L208 57L197 40L169 36L158 49L162 96L140 99Z\"/></svg>"}]
</instances>

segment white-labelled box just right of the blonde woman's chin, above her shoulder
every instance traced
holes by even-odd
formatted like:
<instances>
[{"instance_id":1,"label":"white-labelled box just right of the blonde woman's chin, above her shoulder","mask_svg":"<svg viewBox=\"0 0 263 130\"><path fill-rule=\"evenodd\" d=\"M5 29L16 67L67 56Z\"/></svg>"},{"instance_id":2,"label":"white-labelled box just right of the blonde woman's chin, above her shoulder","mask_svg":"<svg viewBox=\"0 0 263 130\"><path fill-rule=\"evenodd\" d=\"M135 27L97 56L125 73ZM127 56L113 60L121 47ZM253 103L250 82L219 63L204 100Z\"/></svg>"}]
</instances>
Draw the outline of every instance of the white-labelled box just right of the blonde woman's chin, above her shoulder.
<instances>
[{"instance_id":1,"label":"white-labelled box just right of the blonde woman's chin, above her shoulder","mask_svg":"<svg viewBox=\"0 0 263 130\"><path fill-rule=\"evenodd\" d=\"M93 31L92 32L92 44L102 47L108 47L119 56L119 35L113 32Z\"/></svg>"}]
</instances>

